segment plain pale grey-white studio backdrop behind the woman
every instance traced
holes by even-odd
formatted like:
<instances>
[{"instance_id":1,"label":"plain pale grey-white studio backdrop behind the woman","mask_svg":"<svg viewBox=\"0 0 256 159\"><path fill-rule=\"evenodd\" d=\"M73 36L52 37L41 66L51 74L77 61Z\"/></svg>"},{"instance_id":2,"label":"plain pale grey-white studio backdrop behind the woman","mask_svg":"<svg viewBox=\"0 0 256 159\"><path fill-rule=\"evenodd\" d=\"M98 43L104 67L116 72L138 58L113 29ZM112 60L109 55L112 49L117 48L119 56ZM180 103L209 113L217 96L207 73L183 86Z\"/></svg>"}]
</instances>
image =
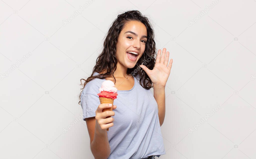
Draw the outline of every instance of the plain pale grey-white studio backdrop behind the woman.
<instances>
[{"instance_id":1,"label":"plain pale grey-white studio backdrop behind the woman","mask_svg":"<svg viewBox=\"0 0 256 159\"><path fill-rule=\"evenodd\" d=\"M93 158L80 78L127 10L150 19L157 49L173 58L160 158L256 158L255 8L255 0L1 0L0 158Z\"/></svg>"}]
</instances>

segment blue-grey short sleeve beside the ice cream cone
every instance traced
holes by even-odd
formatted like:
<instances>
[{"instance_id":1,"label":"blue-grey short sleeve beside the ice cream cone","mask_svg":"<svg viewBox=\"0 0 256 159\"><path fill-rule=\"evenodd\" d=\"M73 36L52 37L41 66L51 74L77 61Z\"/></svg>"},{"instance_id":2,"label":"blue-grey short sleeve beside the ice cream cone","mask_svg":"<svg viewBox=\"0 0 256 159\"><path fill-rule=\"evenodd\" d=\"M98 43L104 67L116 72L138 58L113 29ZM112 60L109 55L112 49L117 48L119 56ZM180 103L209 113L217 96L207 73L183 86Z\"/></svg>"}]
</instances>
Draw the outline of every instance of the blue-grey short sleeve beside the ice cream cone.
<instances>
[{"instance_id":1,"label":"blue-grey short sleeve beside the ice cream cone","mask_svg":"<svg viewBox=\"0 0 256 159\"><path fill-rule=\"evenodd\" d=\"M83 109L83 120L86 118L95 117L98 106L100 105L99 97L92 94L81 95L81 106Z\"/></svg>"}]
</instances>

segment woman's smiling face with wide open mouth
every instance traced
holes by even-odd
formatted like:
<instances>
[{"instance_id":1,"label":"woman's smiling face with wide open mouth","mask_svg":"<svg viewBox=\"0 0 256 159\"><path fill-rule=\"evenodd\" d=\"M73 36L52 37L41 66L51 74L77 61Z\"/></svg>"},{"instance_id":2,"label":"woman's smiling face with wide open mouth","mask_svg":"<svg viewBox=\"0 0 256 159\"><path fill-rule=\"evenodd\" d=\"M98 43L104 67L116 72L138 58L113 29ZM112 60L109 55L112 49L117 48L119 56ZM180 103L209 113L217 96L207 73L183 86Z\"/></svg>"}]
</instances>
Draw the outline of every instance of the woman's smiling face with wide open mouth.
<instances>
[{"instance_id":1,"label":"woman's smiling face with wide open mouth","mask_svg":"<svg viewBox=\"0 0 256 159\"><path fill-rule=\"evenodd\" d=\"M140 21L128 21L120 32L116 44L118 62L127 68L133 68L144 53L146 41L146 26ZM128 53L130 51L133 53Z\"/></svg>"}]
</instances>

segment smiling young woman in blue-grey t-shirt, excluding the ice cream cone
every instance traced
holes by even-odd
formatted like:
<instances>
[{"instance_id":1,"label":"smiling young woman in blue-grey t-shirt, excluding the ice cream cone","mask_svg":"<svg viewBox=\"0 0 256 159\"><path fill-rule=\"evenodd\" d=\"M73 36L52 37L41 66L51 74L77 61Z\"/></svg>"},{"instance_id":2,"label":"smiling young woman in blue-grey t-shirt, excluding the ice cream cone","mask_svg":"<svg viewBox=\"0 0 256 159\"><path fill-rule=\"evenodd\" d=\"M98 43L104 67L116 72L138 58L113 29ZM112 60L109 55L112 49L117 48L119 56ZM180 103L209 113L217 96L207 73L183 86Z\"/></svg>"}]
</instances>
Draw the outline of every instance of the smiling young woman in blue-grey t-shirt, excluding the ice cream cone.
<instances>
[{"instance_id":1,"label":"smiling young woman in blue-grey t-shirt, excluding the ice cream cone","mask_svg":"<svg viewBox=\"0 0 256 159\"><path fill-rule=\"evenodd\" d=\"M155 58L156 51L154 32L146 17L137 10L118 15L91 76L81 79L85 81L79 96L83 120L96 159L155 158L166 154L160 126L173 60L169 61L165 48L163 52L158 50ZM118 96L113 111L102 112L110 107L100 104L97 95L105 80L115 83Z\"/></svg>"}]
</instances>

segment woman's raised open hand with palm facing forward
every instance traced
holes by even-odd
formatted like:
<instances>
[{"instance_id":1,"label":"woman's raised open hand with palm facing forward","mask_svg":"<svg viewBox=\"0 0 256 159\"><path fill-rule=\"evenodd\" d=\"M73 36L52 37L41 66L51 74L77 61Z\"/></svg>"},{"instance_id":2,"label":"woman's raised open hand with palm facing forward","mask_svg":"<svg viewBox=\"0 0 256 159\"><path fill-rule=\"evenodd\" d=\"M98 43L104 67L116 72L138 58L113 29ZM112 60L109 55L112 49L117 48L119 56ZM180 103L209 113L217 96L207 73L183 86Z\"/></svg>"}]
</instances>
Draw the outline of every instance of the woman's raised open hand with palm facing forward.
<instances>
[{"instance_id":1,"label":"woman's raised open hand with palm facing forward","mask_svg":"<svg viewBox=\"0 0 256 159\"><path fill-rule=\"evenodd\" d=\"M170 53L168 51L166 52L166 48L163 48L162 55L161 52L161 49L157 52L156 63L153 70L148 69L145 65L140 65L147 73L154 87L165 87L172 68L173 59L170 59L169 65L167 66Z\"/></svg>"}]
</instances>

